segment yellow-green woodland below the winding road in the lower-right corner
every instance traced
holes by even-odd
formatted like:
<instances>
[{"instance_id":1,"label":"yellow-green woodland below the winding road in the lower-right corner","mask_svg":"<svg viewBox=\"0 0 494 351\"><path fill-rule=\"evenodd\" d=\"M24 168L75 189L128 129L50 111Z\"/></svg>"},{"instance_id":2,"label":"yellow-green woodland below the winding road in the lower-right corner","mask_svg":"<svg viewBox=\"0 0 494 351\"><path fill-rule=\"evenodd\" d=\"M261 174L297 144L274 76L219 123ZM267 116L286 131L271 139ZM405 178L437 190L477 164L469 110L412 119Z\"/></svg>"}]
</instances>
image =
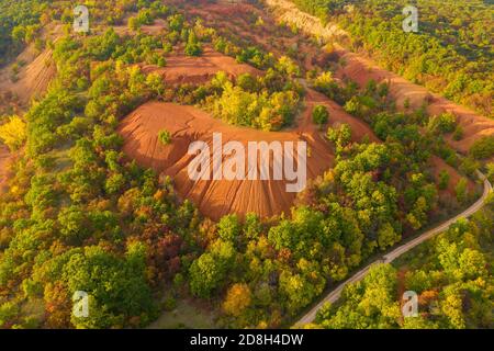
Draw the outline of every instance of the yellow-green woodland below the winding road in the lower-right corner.
<instances>
[{"instance_id":1,"label":"yellow-green woodland below the winding road in the lower-right corner","mask_svg":"<svg viewBox=\"0 0 494 351\"><path fill-rule=\"evenodd\" d=\"M324 328L493 328L494 197L471 219L391 264L380 264L316 318ZM405 291L418 294L418 316L402 317Z\"/></svg>"}]
</instances>

